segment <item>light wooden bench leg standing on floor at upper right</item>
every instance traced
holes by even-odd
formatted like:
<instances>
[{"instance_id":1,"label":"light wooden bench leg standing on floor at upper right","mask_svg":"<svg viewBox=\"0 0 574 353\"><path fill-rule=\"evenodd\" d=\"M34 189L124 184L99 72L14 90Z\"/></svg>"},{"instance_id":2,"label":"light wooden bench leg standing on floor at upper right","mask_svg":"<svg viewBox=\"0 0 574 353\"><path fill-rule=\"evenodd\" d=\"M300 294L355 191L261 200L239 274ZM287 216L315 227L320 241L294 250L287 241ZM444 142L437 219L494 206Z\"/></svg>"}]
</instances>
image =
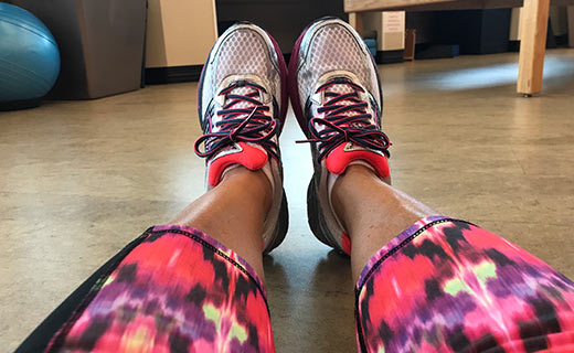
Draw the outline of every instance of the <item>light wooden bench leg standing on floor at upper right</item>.
<instances>
[{"instance_id":1,"label":"light wooden bench leg standing on floor at upper right","mask_svg":"<svg viewBox=\"0 0 574 353\"><path fill-rule=\"evenodd\" d=\"M532 95L542 90L550 0L524 0L520 30L517 92Z\"/></svg>"}]
</instances>

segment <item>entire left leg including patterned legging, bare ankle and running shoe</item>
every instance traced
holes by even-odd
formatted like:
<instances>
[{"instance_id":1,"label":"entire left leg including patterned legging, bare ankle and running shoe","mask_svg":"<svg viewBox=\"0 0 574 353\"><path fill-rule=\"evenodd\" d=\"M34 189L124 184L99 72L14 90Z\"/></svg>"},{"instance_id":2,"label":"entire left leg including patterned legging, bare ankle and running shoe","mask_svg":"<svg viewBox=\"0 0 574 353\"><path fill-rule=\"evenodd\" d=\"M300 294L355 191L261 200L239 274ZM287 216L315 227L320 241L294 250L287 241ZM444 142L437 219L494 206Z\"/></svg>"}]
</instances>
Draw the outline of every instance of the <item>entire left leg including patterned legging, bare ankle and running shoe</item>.
<instances>
[{"instance_id":1,"label":"entire left leg including patterned legging, bare ankle and running shoe","mask_svg":"<svg viewBox=\"0 0 574 353\"><path fill-rule=\"evenodd\" d=\"M97 270L20 352L274 351L262 253L287 232L286 74L261 28L242 22L219 38L198 87L195 152L211 190Z\"/></svg>"}]
</instances>

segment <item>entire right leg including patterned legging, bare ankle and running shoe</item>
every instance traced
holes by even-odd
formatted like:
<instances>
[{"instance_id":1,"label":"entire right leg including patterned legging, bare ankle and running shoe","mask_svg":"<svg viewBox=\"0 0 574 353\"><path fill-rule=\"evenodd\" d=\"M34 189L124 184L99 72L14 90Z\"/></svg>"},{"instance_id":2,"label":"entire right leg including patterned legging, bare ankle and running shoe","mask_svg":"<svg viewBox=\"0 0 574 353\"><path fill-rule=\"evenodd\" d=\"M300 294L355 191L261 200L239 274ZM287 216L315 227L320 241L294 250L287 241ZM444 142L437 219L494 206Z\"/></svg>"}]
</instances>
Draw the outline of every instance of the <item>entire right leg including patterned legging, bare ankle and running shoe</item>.
<instances>
[{"instance_id":1,"label":"entire right leg including patterned legging, bare ankle and running shoe","mask_svg":"<svg viewBox=\"0 0 574 353\"><path fill-rule=\"evenodd\" d=\"M309 224L351 255L360 350L574 352L572 281L495 234L433 216L383 181L391 143L363 39L321 19L297 41L289 67L315 163Z\"/></svg>"}]
</instances>

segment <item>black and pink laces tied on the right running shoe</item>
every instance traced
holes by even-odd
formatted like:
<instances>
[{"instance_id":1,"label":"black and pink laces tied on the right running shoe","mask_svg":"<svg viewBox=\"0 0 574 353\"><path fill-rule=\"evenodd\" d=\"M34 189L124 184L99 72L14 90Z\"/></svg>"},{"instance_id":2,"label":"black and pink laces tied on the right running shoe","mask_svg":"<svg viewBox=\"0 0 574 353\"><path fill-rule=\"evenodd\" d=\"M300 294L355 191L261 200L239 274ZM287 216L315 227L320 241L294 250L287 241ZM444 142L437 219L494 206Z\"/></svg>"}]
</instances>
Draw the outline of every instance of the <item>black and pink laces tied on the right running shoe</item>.
<instances>
[{"instance_id":1,"label":"black and pink laces tied on the right running shoe","mask_svg":"<svg viewBox=\"0 0 574 353\"><path fill-rule=\"evenodd\" d=\"M348 85L353 92L339 94L327 90L337 84ZM381 151L387 158L391 157L389 147L392 143L389 141L389 137L381 131L380 127L372 124L371 114L366 113L369 104L359 97L359 93L364 93L361 86L348 79L334 78L317 88L316 94L322 90L327 90L325 96L329 97L329 100L317 111L319 114L325 113L325 117L311 118L309 120L309 132L312 138L297 141L298 143L319 142L319 161L344 142ZM355 115L351 115L351 113L355 113ZM319 131L317 125L323 125L326 128Z\"/></svg>"}]
</instances>

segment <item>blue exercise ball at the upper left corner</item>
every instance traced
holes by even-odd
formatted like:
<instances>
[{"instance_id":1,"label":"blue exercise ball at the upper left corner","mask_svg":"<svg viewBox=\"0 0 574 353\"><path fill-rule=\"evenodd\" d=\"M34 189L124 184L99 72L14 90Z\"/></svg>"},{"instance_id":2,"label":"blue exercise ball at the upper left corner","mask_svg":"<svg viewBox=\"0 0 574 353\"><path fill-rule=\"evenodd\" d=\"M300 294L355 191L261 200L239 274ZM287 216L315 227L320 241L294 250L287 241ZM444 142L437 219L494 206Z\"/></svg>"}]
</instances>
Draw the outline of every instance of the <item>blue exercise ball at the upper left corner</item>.
<instances>
[{"instance_id":1,"label":"blue exercise ball at the upper left corner","mask_svg":"<svg viewBox=\"0 0 574 353\"><path fill-rule=\"evenodd\" d=\"M40 101L60 74L60 52L29 11L0 2L0 105Z\"/></svg>"}]
</instances>

